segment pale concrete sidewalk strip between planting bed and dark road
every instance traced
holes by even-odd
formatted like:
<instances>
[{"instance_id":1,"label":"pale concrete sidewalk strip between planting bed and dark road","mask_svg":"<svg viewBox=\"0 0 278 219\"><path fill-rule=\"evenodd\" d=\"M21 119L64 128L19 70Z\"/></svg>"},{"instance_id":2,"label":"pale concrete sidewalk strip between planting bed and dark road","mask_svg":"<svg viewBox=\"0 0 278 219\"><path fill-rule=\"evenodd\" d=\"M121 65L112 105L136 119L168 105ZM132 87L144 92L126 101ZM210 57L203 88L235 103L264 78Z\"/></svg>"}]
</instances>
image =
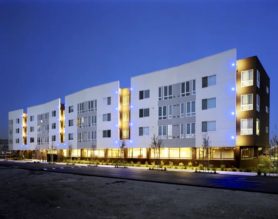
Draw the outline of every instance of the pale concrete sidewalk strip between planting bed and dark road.
<instances>
[{"instance_id":1,"label":"pale concrete sidewalk strip between planting bed and dark road","mask_svg":"<svg viewBox=\"0 0 278 219\"><path fill-rule=\"evenodd\" d=\"M3 161L3 160L0 160ZM27 160L6 160L7 162L21 162L21 163L33 163L33 160L27 161ZM3 161L5 162L5 161ZM48 164L48 162L40 162L41 164ZM57 165L66 165L66 163L58 163L56 162ZM75 164L76 166L88 166L87 164ZM115 168L115 165L98 165L102 167L110 167L110 168ZM137 170L149 170L149 167L141 167L141 166L128 166L127 168L131 169L137 169ZM164 170L164 169L163 169ZM187 170L187 169L170 169L167 168L167 171L173 171L173 172L195 172L195 170ZM209 173L213 173L214 171L209 171ZM204 173L204 171L198 170L198 173ZM208 171L207 171L208 173ZM257 173L248 173L248 172L233 172L233 171L216 171L217 174L224 174L224 175L237 175L237 176L257 176ZM263 173L261 174L262 176L264 175ZM267 173L266 176L273 176L273 173ZM274 174L274 177L276 177L276 174Z\"/></svg>"}]
</instances>

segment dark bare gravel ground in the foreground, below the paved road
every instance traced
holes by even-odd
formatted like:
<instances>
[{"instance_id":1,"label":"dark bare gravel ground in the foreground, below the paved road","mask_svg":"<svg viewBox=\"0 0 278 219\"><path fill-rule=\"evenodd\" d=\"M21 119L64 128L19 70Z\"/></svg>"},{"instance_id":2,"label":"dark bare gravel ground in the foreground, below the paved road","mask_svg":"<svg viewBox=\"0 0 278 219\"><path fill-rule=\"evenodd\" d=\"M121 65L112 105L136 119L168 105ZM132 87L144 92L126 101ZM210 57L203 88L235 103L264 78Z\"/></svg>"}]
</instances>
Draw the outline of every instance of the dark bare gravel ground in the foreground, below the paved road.
<instances>
[{"instance_id":1,"label":"dark bare gravel ground in the foreground, below the paved road","mask_svg":"<svg viewBox=\"0 0 278 219\"><path fill-rule=\"evenodd\" d=\"M276 218L278 195L0 167L0 218ZM5 210L4 210L5 209Z\"/></svg>"}]
</instances>

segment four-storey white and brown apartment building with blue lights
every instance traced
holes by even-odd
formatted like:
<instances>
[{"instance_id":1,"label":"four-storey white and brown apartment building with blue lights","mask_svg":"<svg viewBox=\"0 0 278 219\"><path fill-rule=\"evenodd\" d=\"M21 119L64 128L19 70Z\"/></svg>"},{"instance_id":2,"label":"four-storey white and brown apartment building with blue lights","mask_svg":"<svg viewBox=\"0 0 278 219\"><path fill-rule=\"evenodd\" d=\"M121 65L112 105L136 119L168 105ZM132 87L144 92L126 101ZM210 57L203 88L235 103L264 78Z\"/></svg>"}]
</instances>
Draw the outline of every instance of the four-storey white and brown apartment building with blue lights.
<instances>
[{"instance_id":1,"label":"four-storey white and brown apartment building with blue lights","mask_svg":"<svg viewBox=\"0 0 278 219\"><path fill-rule=\"evenodd\" d=\"M29 107L27 114L9 112L9 133L11 120L20 116L20 133L27 136L23 134L16 146L9 138L13 150L29 158L32 144L41 144L46 154L53 141L58 156L66 157L72 144L73 156L81 159L90 159L90 148L96 145L99 160L119 159L119 140L126 140L127 161L151 163L154 153L149 145L155 134L164 145L164 163L198 166L207 132L211 164L256 166L258 150L269 141L269 85L256 56L236 61L236 49L231 49L132 77L129 88L120 88L116 81L69 94L65 104L57 99Z\"/></svg>"}]
</instances>

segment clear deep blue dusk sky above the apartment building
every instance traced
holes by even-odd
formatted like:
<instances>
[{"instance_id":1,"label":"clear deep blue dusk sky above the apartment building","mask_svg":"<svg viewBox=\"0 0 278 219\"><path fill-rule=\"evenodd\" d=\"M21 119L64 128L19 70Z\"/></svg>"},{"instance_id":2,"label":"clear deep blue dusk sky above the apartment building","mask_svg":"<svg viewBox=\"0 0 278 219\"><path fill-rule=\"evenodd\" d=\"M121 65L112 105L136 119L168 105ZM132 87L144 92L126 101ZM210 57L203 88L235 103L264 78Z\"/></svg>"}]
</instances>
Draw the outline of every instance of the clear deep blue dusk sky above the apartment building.
<instances>
[{"instance_id":1,"label":"clear deep blue dusk sky above the apartment building","mask_svg":"<svg viewBox=\"0 0 278 219\"><path fill-rule=\"evenodd\" d=\"M278 1L0 1L0 138L8 111L237 48L270 77L278 125ZM276 67L275 67L276 66ZM276 95L275 95L276 94Z\"/></svg>"}]
</instances>

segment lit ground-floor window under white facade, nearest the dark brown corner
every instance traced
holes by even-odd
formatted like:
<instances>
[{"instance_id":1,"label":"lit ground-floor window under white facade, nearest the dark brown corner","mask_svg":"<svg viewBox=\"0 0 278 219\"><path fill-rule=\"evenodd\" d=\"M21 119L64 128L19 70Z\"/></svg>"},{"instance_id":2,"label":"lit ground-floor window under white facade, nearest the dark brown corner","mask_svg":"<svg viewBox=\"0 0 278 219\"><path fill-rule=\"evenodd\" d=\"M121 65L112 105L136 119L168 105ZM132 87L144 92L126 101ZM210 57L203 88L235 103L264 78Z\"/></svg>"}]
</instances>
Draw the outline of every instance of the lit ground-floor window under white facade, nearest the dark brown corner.
<instances>
[{"instance_id":1,"label":"lit ground-floor window under white facade, nearest the dark brown corner","mask_svg":"<svg viewBox=\"0 0 278 219\"><path fill-rule=\"evenodd\" d=\"M234 160L234 153L234 147L210 147L207 150L196 148L195 159Z\"/></svg>"}]
</instances>

